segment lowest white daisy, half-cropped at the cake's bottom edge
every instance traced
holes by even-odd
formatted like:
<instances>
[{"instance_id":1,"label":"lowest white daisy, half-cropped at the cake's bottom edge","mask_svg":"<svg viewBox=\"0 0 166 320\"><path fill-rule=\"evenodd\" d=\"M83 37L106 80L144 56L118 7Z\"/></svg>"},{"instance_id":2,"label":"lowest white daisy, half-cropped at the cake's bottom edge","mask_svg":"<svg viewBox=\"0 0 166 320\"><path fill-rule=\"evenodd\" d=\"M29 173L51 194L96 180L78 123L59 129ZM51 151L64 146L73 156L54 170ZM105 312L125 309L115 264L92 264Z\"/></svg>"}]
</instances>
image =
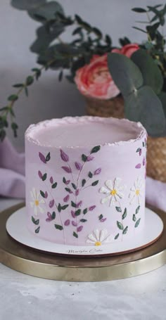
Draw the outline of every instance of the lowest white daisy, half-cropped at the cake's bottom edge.
<instances>
[{"instance_id":1,"label":"lowest white daisy, half-cropped at the cake's bottom edge","mask_svg":"<svg viewBox=\"0 0 166 320\"><path fill-rule=\"evenodd\" d=\"M102 243L110 243L113 241L113 236L111 236L106 229L99 231L94 230L88 235L87 243L94 244L96 246L102 245Z\"/></svg>"}]
</instances>

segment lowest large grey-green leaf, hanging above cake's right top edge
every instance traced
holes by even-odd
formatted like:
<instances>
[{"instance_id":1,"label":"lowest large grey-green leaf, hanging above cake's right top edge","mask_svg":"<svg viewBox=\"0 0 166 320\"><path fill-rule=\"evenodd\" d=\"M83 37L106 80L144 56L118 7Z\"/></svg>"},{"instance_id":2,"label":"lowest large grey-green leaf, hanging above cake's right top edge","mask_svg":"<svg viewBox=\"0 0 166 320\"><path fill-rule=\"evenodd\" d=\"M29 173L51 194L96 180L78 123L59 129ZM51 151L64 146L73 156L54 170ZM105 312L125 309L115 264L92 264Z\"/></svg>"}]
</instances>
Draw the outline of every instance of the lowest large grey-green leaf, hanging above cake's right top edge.
<instances>
[{"instance_id":1,"label":"lowest large grey-green leaf, hanging above cake's right top edge","mask_svg":"<svg viewBox=\"0 0 166 320\"><path fill-rule=\"evenodd\" d=\"M158 136L165 130L162 103L148 86L141 87L125 98L125 115L129 120L140 121L151 136Z\"/></svg>"}]
</instances>

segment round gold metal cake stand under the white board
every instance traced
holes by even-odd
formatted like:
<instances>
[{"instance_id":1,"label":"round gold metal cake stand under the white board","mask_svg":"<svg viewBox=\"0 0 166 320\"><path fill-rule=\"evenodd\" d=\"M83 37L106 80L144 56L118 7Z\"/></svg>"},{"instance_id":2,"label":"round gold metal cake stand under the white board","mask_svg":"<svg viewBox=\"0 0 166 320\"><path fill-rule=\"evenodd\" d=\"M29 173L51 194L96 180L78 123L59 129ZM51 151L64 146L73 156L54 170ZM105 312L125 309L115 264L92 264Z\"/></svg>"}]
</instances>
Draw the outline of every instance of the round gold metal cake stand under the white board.
<instances>
[{"instance_id":1,"label":"round gold metal cake stand under the white board","mask_svg":"<svg viewBox=\"0 0 166 320\"><path fill-rule=\"evenodd\" d=\"M61 281L108 281L144 274L166 263L166 213L161 210L149 207L161 217L164 230L148 248L112 257L60 257L35 251L8 236L8 217L24 205L0 214L0 262L23 274Z\"/></svg>"}]
</instances>

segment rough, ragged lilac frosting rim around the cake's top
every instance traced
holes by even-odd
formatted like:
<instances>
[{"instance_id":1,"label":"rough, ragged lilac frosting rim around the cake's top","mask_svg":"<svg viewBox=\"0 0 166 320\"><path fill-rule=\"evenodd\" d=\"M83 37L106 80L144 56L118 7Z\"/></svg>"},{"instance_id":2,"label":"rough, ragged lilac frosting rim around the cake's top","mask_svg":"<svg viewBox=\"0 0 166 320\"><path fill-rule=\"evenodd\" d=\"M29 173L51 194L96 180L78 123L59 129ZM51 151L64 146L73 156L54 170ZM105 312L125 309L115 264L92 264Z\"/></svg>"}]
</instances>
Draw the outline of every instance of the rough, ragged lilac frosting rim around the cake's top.
<instances>
[{"instance_id":1,"label":"rough, ragged lilac frosting rim around the cake's top","mask_svg":"<svg viewBox=\"0 0 166 320\"><path fill-rule=\"evenodd\" d=\"M39 141L37 139L37 134L39 135L39 132L44 131L45 129L51 129L54 127L61 127L63 125L86 125L86 124L106 124L107 126L110 124L112 126L117 126L119 128L125 128L125 131L132 130L134 132L132 139L124 140L118 140L118 141L106 141L106 142L99 142L98 145L100 146L119 146L124 143L134 143L135 141L138 141L143 136L147 135L146 129L143 127L141 122L132 122L127 119L117 119L115 117L93 117L93 116L75 116L75 117L62 117L62 118L55 118L51 120L44 120L41 122L38 122L37 124L31 124L30 127L27 128L25 132L25 140L30 141L31 143L34 143L37 146L43 146L43 147L49 147L49 148L60 148L61 146L52 146L49 145L48 141L47 143L44 143L43 141ZM111 129L111 127L110 127ZM72 143L71 143L72 144ZM66 148L82 148L84 145L70 145L66 146Z\"/></svg>"}]
</instances>

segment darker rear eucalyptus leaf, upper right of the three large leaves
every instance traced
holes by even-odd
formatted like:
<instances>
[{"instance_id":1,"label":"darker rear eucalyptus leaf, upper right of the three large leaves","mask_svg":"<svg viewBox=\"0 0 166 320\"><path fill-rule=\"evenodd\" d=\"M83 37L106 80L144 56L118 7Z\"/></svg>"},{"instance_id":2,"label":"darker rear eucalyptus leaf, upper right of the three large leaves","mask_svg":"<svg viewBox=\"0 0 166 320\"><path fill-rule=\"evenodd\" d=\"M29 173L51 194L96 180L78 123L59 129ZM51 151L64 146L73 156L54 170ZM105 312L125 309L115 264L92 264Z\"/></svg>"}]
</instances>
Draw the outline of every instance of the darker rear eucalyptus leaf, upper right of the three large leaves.
<instances>
[{"instance_id":1,"label":"darker rear eucalyptus leaf, upper right of the three large leaves","mask_svg":"<svg viewBox=\"0 0 166 320\"><path fill-rule=\"evenodd\" d=\"M143 85L151 87L155 94L160 94L163 87L163 77L155 60L143 49L135 51L131 59L141 70Z\"/></svg>"}]
</instances>

